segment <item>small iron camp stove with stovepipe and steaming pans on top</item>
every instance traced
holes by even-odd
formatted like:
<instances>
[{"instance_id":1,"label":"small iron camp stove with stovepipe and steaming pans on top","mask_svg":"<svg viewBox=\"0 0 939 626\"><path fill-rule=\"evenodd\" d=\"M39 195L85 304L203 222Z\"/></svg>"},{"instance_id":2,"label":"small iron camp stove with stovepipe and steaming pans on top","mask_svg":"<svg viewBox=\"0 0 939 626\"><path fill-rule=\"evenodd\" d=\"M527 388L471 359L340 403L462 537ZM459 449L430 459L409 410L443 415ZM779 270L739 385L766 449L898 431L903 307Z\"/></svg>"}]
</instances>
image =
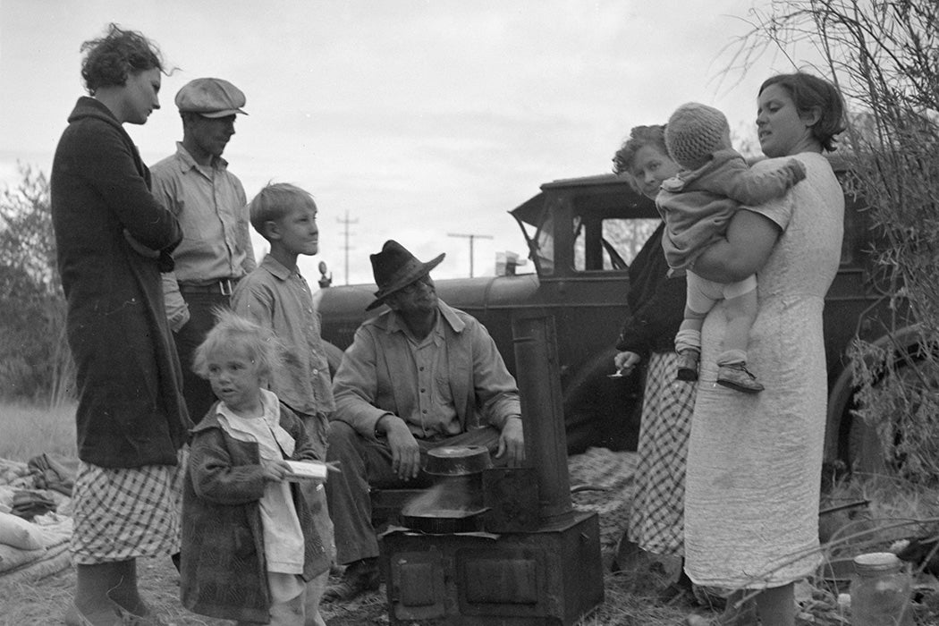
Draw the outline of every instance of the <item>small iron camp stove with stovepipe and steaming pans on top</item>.
<instances>
[{"instance_id":1,"label":"small iron camp stove with stovepipe and steaming pans on top","mask_svg":"<svg viewBox=\"0 0 939 626\"><path fill-rule=\"evenodd\" d=\"M428 455L439 481L380 539L393 625L567 626L603 603L598 518L571 504L554 320L513 332L527 466Z\"/></svg>"}]
</instances>

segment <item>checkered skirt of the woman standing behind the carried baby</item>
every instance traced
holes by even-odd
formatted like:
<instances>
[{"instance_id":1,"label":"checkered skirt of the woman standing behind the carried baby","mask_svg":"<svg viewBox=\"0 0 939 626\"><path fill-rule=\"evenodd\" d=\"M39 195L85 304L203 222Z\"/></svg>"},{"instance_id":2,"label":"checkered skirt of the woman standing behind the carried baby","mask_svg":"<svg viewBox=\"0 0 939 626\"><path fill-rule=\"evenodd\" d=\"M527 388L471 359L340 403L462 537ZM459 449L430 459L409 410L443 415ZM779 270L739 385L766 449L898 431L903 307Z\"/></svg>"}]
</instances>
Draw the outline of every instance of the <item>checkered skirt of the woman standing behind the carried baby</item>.
<instances>
[{"instance_id":1,"label":"checkered skirt of the woman standing behind the carried baby","mask_svg":"<svg viewBox=\"0 0 939 626\"><path fill-rule=\"evenodd\" d=\"M685 551L685 454L697 386L675 380L677 368L673 352L649 358L629 515L629 539L657 555Z\"/></svg>"}]
</instances>

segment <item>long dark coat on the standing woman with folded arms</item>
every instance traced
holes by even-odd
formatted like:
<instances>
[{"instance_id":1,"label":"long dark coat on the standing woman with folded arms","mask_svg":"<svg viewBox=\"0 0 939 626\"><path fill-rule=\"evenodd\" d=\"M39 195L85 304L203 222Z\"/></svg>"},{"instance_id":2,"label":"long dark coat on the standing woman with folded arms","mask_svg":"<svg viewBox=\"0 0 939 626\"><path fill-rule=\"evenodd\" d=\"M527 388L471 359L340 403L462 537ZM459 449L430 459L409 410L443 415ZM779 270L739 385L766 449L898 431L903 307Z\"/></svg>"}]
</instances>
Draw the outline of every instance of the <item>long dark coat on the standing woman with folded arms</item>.
<instances>
[{"instance_id":1,"label":"long dark coat on the standing woman with folded arms","mask_svg":"<svg viewBox=\"0 0 939 626\"><path fill-rule=\"evenodd\" d=\"M192 425L156 253L182 238L150 193L131 137L98 100L81 98L55 149L52 215L78 366L78 456L104 467L177 464ZM140 250L141 252L135 252Z\"/></svg>"}]
</instances>

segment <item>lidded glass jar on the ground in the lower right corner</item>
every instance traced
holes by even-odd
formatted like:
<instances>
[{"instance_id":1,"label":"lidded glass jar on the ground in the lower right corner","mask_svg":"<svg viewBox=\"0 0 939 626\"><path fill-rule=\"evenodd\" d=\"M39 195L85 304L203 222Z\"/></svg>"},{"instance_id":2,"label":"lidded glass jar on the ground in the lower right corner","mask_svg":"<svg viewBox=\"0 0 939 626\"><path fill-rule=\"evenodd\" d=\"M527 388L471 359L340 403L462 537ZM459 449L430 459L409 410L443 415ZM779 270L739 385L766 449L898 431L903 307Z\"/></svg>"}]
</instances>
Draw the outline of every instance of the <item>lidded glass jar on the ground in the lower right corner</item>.
<instances>
[{"instance_id":1,"label":"lidded glass jar on the ground in the lower right corner","mask_svg":"<svg viewBox=\"0 0 939 626\"><path fill-rule=\"evenodd\" d=\"M854 557L852 626L913 626L913 580L890 552Z\"/></svg>"}]
</instances>

